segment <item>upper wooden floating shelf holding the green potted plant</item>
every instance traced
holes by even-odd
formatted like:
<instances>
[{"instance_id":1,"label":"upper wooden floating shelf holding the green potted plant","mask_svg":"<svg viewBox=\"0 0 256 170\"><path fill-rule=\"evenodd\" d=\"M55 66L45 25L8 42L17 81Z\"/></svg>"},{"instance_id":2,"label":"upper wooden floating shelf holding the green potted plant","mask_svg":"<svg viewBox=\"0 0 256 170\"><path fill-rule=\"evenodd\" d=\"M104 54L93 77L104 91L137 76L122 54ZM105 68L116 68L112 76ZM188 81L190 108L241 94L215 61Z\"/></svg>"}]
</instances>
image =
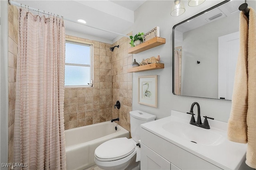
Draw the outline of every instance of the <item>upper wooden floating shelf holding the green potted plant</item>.
<instances>
[{"instance_id":1,"label":"upper wooden floating shelf holding the green potted plant","mask_svg":"<svg viewBox=\"0 0 256 170\"><path fill-rule=\"evenodd\" d=\"M136 45L135 47L129 48L128 53L137 54L137 53L154 48L154 47L156 47L158 45L162 45L162 44L165 44L165 38L154 37L144 43Z\"/></svg>"}]
</instances>

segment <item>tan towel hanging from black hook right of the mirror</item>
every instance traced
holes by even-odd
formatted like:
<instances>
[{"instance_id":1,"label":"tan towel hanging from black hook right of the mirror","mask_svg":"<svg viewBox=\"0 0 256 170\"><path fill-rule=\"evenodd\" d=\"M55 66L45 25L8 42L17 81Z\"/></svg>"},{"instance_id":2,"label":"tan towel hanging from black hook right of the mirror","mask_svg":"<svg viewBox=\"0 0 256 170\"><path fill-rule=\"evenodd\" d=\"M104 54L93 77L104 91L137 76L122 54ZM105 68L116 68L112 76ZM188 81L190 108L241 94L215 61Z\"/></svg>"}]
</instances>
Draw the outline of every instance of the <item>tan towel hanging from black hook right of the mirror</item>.
<instances>
[{"instance_id":1,"label":"tan towel hanging from black hook right of the mirror","mask_svg":"<svg viewBox=\"0 0 256 170\"><path fill-rule=\"evenodd\" d=\"M256 16L240 12L240 48L236 65L228 139L248 143L246 164L256 168Z\"/></svg>"}]
</instances>

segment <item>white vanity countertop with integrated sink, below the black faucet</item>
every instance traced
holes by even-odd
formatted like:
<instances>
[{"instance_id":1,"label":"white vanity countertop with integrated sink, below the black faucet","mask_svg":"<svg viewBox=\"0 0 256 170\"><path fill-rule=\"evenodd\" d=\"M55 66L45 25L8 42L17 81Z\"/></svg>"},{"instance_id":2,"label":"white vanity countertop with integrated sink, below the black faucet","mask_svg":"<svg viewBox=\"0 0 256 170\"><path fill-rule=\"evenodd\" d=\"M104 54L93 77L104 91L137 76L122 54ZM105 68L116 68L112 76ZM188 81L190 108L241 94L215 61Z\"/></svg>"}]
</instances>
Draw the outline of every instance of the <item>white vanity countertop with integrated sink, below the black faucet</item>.
<instances>
[{"instance_id":1,"label":"white vanity countertop with integrated sink, below the black faucet","mask_svg":"<svg viewBox=\"0 0 256 170\"><path fill-rule=\"evenodd\" d=\"M204 115L204 113L202 113ZM194 115L195 119L197 116ZM211 164L214 164L221 169L237 169L245 159L246 144L235 143L228 140L227 123L217 120L208 120L210 129L204 129L195 125L191 125L191 115L172 110L171 115L151 121L141 125L142 131L145 133L144 139L148 139L150 134L154 134L163 141L169 142L172 146L176 146L187 152L195 155ZM201 118L204 121L204 118ZM147 133L149 132L149 133ZM143 138L142 134L142 138ZM155 139L155 138L154 138ZM141 140L142 143L150 142ZM157 143L152 141L151 143ZM161 151L168 156L170 153L167 143L161 145ZM155 145L152 144L152 147ZM179 155L182 152L175 152L174 155ZM172 157L175 159L175 156ZM178 161L178 160L177 160ZM236 163L234 163L236 162Z\"/></svg>"}]
</instances>

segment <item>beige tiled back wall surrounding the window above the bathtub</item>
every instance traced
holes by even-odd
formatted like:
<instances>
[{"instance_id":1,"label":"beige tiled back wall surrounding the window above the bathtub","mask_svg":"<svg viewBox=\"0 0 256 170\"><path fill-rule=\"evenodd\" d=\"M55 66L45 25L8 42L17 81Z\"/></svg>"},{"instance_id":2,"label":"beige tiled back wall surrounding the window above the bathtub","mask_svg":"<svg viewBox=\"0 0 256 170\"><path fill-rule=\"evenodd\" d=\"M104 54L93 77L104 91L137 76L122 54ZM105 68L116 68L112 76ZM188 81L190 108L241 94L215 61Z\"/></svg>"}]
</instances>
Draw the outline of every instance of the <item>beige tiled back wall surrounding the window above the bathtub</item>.
<instances>
[{"instance_id":1,"label":"beige tiled back wall surrounding the window above the bathtub","mask_svg":"<svg viewBox=\"0 0 256 170\"><path fill-rule=\"evenodd\" d=\"M94 86L65 88L65 129L112 119L112 52L110 44L66 35L66 38L94 44Z\"/></svg>"}]
</instances>

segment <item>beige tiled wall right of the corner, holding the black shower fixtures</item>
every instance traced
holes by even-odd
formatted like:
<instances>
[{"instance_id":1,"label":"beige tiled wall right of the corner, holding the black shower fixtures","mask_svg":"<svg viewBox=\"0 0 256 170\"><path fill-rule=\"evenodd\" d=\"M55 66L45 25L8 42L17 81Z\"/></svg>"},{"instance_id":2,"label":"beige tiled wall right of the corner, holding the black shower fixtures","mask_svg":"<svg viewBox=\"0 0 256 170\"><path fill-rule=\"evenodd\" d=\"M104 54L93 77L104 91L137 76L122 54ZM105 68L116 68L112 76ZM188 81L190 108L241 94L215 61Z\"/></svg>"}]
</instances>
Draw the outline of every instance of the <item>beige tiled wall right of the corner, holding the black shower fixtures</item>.
<instances>
[{"instance_id":1,"label":"beige tiled wall right of the corner, holding the black shower fixtures","mask_svg":"<svg viewBox=\"0 0 256 170\"><path fill-rule=\"evenodd\" d=\"M132 35L129 33L128 35ZM130 114L132 110L132 73L127 73L127 69L131 67L132 54L128 54L127 49L130 48L130 39L122 37L112 46L119 45L112 52L112 105L119 100L120 109L112 107L112 118L119 117L117 123L130 131Z\"/></svg>"}]
</instances>

